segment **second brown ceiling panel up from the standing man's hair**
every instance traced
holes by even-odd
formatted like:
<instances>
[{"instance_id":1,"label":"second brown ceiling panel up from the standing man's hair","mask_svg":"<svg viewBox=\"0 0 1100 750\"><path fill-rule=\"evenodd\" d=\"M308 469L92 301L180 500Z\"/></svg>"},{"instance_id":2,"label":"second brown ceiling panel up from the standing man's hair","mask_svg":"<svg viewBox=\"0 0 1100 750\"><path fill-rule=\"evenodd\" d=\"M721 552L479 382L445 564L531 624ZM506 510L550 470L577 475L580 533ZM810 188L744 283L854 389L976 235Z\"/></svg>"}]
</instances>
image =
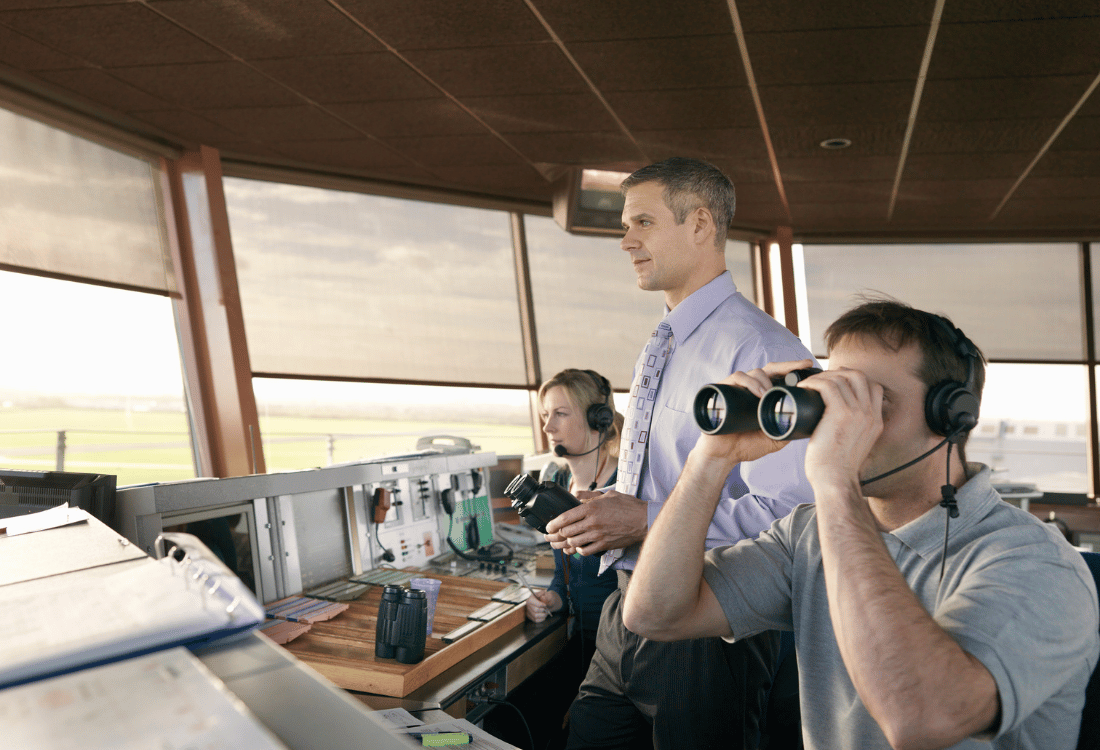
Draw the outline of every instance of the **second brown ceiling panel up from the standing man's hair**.
<instances>
[{"instance_id":1,"label":"second brown ceiling panel up from the standing man's hair","mask_svg":"<svg viewBox=\"0 0 1100 750\"><path fill-rule=\"evenodd\" d=\"M756 128L747 86L608 92L607 102L631 130L694 130L700 126Z\"/></svg>"}]
</instances>

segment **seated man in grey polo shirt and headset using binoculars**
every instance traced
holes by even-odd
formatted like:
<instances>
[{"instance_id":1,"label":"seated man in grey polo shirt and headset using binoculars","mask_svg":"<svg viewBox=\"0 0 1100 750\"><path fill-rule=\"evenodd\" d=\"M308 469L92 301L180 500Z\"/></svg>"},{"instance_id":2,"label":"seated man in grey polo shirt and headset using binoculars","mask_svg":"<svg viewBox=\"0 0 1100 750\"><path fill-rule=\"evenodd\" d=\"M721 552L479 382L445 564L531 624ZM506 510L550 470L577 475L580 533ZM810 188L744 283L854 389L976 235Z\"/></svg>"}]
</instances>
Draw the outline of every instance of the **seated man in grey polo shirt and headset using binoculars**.
<instances>
[{"instance_id":1,"label":"seated man in grey polo shirt and headset using binoculars","mask_svg":"<svg viewBox=\"0 0 1100 750\"><path fill-rule=\"evenodd\" d=\"M829 371L796 386L824 406L805 456L815 504L704 554L729 467L783 444L704 432L642 548L626 626L656 640L793 630L807 748L1074 748L1097 592L1056 530L965 461L980 352L892 300L846 312L825 339ZM809 364L726 384L762 397Z\"/></svg>"}]
</instances>

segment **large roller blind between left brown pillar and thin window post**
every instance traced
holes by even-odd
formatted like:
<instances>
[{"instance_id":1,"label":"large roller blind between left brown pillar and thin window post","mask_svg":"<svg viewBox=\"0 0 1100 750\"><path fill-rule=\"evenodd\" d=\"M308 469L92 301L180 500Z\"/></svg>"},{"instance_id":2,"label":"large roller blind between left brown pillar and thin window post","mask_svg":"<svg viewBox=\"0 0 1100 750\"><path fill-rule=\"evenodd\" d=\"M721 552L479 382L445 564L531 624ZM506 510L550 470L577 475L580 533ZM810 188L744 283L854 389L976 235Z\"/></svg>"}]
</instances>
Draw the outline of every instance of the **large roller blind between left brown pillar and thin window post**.
<instances>
[{"instance_id":1,"label":"large roller blind between left brown pillar and thin window post","mask_svg":"<svg viewBox=\"0 0 1100 750\"><path fill-rule=\"evenodd\" d=\"M506 212L224 185L254 372L524 383Z\"/></svg>"}]
</instances>

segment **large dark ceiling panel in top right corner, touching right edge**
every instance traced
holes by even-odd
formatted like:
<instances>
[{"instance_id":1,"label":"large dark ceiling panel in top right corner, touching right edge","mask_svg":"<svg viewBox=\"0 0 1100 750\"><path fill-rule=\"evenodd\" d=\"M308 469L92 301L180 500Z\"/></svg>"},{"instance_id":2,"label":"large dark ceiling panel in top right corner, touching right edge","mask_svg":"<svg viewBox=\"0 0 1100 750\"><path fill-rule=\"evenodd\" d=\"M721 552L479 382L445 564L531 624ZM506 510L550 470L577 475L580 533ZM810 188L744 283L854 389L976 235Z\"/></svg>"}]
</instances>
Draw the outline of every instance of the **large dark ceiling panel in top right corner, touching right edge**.
<instances>
[{"instance_id":1,"label":"large dark ceiling panel in top right corner, touching right edge","mask_svg":"<svg viewBox=\"0 0 1100 750\"><path fill-rule=\"evenodd\" d=\"M1097 74L1100 18L944 24L930 78Z\"/></svg>"}]
</instances>

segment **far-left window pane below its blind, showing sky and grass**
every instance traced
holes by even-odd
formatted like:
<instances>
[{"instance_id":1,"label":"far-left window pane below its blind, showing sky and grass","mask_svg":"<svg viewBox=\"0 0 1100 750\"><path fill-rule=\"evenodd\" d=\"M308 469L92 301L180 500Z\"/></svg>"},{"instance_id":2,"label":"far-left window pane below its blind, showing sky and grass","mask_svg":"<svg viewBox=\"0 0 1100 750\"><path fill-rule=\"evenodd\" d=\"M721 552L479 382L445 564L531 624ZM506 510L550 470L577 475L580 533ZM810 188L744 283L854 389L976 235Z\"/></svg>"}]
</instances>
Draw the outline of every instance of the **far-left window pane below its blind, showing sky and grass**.
<instances>
[{"instance_id":1,"label":"far-left window pane below its blind, showing sky and grass","mask_svg":"<svg viewBox=\"0 0 1100 750\"><path fill-rule=\"evenodd\" d=\"M166 297L0 272L0 319L3 465L195 476Z\"/></svg>"}]
</instances>

